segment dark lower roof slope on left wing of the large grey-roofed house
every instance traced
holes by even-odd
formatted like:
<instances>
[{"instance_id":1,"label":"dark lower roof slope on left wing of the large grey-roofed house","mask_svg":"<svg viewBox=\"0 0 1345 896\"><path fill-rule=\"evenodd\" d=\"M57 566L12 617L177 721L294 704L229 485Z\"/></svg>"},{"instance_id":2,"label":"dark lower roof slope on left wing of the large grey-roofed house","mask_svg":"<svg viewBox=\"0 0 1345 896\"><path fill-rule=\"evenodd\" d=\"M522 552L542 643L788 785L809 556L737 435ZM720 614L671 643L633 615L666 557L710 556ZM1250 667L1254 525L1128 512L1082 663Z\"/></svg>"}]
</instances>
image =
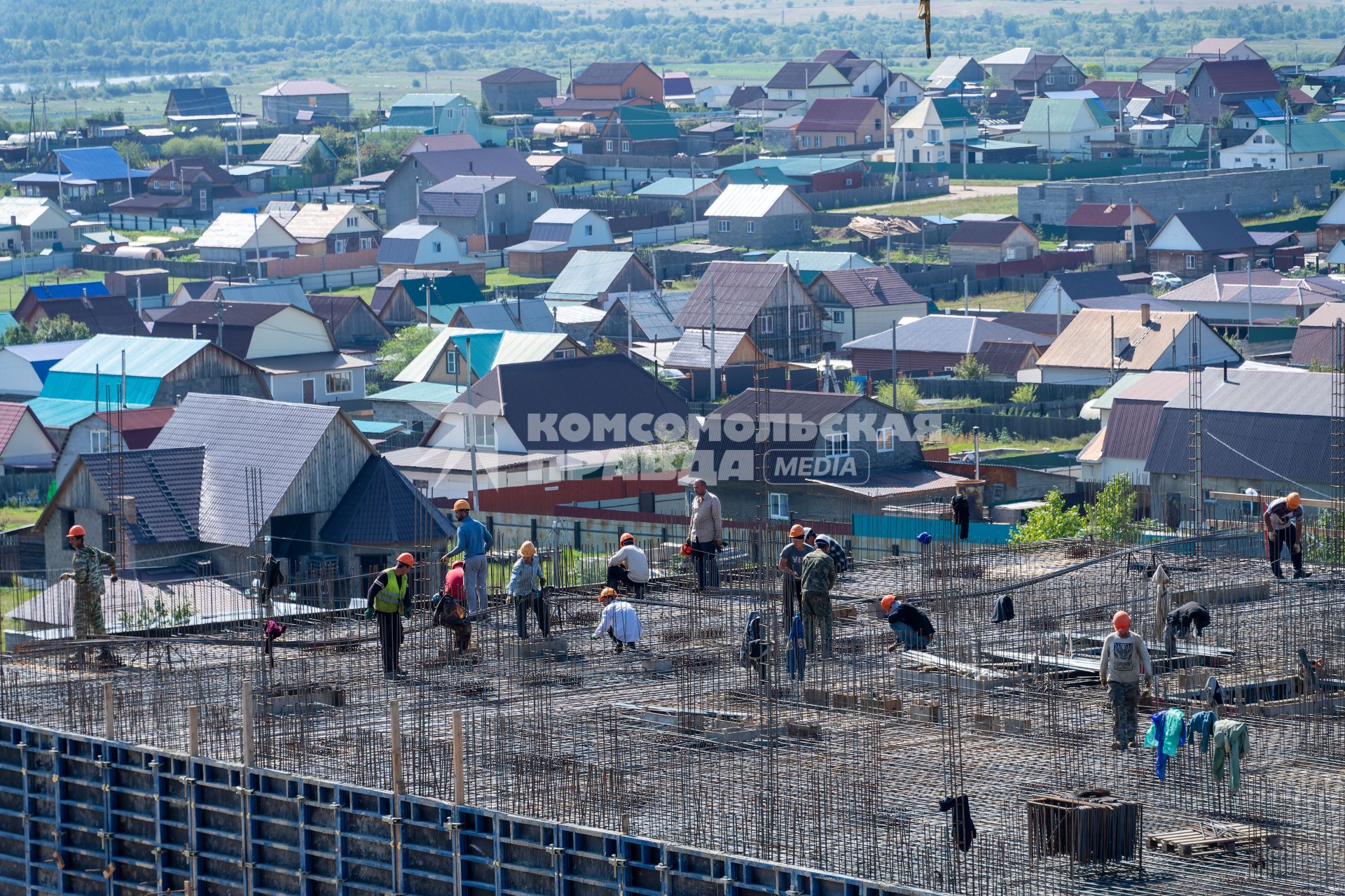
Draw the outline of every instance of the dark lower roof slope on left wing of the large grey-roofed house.
<instances>
[{"instance_id":1,"label":"dark lower roof slope on left wing of the large grey-roofed house","mask_svg":"<svg viewBox=\"0 0 1345 896\"><path fill-rule=\"evenodd\" d=\"M81 454L104 498L136 498L126 532L136 544L192 541L200 514L206 449L200 446Z\"/></svg>"}]
</instances>

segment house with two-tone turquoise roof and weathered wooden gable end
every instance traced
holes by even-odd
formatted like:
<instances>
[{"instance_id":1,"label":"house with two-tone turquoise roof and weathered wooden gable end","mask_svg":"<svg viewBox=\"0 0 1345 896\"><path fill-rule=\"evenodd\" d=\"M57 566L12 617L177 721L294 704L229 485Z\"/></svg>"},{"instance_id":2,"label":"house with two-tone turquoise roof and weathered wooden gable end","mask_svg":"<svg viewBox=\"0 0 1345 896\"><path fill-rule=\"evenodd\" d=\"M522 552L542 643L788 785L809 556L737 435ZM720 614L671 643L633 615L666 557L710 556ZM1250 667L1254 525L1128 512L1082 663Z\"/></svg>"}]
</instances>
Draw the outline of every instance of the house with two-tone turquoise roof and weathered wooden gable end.
<instances>
[{"instance_id":1,"label":"house with two-tone turquoise roof and weathered wooden gable end","mask_svg":"<svg viewBox=\"0 0 1345 896\"><path fill-rule=\"evenodd\" d=\"M95 411L176 404L188 392L270 398L256 367L204 339L104 334L54 364L28 406L48 430L69 430Z\"/></svg>"}]
</instances>

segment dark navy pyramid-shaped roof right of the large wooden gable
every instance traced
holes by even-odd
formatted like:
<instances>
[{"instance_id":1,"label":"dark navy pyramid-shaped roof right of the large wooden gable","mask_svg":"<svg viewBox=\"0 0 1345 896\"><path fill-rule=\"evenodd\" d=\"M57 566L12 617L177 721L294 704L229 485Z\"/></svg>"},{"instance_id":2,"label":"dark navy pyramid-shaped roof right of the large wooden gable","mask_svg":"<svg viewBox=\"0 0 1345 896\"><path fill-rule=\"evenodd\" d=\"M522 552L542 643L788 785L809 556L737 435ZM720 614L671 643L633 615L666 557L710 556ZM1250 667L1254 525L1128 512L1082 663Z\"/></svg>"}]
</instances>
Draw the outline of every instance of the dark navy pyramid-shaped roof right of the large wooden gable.
<instances>
[{"instance_id":1,"label":"dark navy pyramid-shaped roof right of the large wooden gable","mask_svg":"<svg viewBox=\"0 0 1345 896\"><path fill-rule=\"evenodd\" d=\"M452 533L453 524L443 510L387 458L375 454L364 461L317 537L334 544L404 545Z\"/></svg>"}]
</instances>

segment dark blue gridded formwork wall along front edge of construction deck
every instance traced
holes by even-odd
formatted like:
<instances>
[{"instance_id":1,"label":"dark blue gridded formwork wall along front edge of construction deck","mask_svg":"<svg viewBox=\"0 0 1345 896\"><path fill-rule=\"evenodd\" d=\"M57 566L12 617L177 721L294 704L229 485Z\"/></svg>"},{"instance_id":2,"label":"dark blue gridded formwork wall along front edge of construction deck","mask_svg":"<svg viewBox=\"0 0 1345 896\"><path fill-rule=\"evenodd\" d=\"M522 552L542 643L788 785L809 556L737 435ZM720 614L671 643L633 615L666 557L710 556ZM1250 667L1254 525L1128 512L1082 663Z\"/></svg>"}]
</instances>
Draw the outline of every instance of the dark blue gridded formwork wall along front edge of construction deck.
<instances>
[{"instance_id":1,"label":"dark blue gridded formwork wall along front edge of construction deck","mask_svg":"<svg viewBox=\"0 0 1345 896\"><path fill-rule=\"evenodd\" d=\"M12 723L0 794L31 896L925 892Z\"/></svg>"}]
</instances>

